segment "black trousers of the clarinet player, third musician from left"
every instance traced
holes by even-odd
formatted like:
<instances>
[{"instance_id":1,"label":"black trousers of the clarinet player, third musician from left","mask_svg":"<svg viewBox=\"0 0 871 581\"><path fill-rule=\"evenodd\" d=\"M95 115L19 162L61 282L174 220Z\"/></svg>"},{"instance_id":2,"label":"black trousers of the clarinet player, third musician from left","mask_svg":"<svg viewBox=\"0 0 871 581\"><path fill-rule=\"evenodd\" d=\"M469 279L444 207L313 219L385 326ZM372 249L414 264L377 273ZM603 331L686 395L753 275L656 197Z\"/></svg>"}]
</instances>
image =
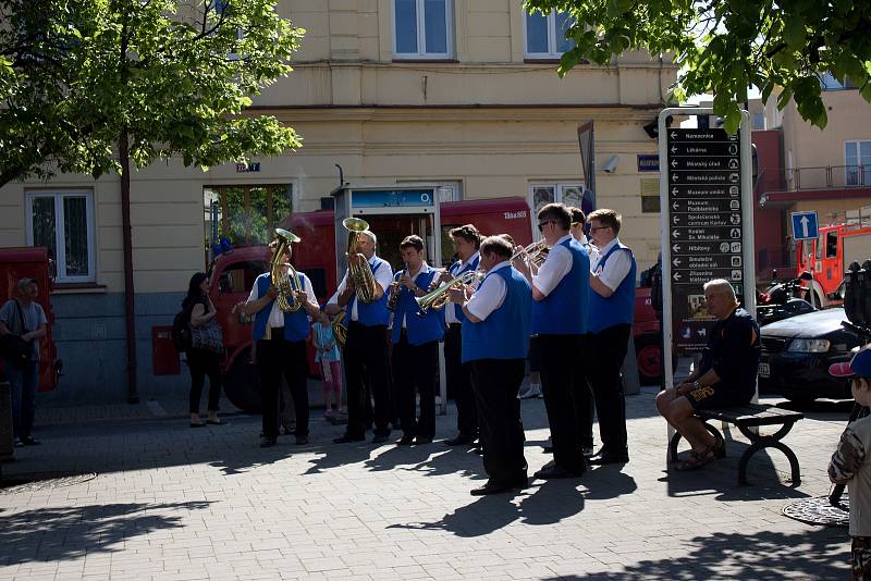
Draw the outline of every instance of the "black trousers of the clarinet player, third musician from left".
<instances>
[{"instance_id":1,"label":"black trousers of the clarinet player, third musician from left","mask_svg":"<svg viewBox=\"0 0 871 581\"><path fill-rule=\"evenodd\" d=\"M396 410L403 435L432 440L436 436L436 375L439 367L439 342L412 345L405 332L393 345L393 381ZM420 394L420 417L417 398Z\"/></svg>"}]
</instances>

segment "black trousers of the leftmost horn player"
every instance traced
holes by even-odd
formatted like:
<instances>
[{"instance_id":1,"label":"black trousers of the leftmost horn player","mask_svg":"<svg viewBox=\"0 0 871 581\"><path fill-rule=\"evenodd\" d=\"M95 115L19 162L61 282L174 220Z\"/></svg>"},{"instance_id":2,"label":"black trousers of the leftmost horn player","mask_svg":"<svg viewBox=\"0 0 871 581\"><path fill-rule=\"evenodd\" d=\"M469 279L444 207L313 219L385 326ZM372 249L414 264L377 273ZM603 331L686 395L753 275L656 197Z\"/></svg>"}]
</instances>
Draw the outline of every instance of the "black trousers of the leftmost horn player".
<instances>
[{"instance_id":1,"label":"black trousers of the leftmost horn player","mask_svg":"<svg viewBox=\"0 0 871 581\"><path fill-rule=\"evenodd\" d=\"M296 410L296 435L308 435L308 360L305 341L284 341L283 330L273 329L272 338L257 342L257 369L263 407L263 435L279 435L281 379L287 382Z\"/></svg>"}]
</instances>

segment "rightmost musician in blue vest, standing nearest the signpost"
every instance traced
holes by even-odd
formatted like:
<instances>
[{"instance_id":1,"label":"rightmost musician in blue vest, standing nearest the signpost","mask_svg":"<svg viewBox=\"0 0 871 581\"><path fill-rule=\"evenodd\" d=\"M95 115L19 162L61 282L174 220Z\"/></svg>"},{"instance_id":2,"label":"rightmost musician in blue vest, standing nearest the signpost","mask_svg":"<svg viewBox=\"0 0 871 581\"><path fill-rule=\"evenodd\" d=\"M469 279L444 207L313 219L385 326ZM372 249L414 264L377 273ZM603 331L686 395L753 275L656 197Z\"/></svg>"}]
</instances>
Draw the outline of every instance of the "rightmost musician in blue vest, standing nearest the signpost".
<instances>
[{"instance_id":1,"label":"rightmost musician in blue vest, standing nearest the signpost","mask_svg":"<svg viewBox=\"0 0 871 581\"><path fill-rule=\"evenodd\" d=\"M619 370L631 335L637 269L633 251L617 238L622 222L617 212L596 210L587 221L597 248L590 263L591 364L588 367L602 438L602 448L588 461L591 465L626 463L629 461L626 398Z\"/></svg>"}]
</instances>

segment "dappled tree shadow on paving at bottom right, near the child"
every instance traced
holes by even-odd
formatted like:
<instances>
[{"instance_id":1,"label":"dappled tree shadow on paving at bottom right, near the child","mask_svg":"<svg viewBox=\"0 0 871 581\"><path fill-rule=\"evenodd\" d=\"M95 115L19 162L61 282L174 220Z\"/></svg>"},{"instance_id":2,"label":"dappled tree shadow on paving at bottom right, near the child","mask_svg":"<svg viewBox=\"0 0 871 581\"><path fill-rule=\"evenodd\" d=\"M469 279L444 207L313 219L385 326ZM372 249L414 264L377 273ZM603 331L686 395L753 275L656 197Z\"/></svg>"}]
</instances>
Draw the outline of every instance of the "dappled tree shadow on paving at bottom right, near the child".
<instances>
[{"instance_id":1,"label":"dappled tree shadow on paving at bottom right, near the child","mask_svg":"<svg viewBox=\"0 0 871 581\"><path fill-rule=\"evenodd\" d=\"M847 579L849 537L835 528L796 534L761 531L716 533L686 541L686 555L642 560L608 573L569 574L547 579Z\"/></svg>"}]
</instances>

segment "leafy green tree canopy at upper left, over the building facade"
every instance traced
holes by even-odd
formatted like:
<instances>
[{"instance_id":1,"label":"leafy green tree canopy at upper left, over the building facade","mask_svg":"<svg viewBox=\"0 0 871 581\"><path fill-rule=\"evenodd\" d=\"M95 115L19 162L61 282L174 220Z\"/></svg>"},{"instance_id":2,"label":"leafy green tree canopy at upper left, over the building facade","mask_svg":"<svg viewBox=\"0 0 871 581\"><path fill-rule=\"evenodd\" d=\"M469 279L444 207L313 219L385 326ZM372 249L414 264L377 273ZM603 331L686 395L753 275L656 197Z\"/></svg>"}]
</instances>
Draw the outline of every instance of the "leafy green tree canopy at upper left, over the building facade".
<instances>
[{"instance_id":1,"label":"leafy green tree canopy at upper left, over the building facade","mask_svg":"<svg viewBox=\"0 0 871 581\"><path fill-rule=\"evenodd\" d=\"M0 185L299 145L246 112L304 30L268 0L0 0Z\"/></svg>"}]
</instances>

